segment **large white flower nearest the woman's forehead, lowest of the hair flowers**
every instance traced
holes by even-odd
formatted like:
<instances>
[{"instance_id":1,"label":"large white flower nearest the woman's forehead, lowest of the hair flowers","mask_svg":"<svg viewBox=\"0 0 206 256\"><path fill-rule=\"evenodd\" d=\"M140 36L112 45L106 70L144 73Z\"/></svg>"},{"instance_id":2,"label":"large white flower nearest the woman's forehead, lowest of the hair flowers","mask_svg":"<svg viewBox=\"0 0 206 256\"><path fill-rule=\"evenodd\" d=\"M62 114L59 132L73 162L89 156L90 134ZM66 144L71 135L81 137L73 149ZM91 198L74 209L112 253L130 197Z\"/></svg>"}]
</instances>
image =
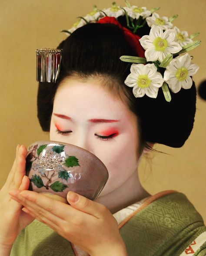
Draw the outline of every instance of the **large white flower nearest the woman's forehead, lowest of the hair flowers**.
<instances>
[{"instance_id":1,"label":"large white flower nearest the woman's forehead, lowest of the hair flowers","mask_svg":"<svg viewBox=\"0 0 206 256\"><path fill-rule=\"evenodd\" d=\"M132 64L130 72L124 83L133 87L133 94L136 98L143 97L145 94L150 98L157 97L164 80L157 72L155 64Z\"/></svg>"}]
</instances>

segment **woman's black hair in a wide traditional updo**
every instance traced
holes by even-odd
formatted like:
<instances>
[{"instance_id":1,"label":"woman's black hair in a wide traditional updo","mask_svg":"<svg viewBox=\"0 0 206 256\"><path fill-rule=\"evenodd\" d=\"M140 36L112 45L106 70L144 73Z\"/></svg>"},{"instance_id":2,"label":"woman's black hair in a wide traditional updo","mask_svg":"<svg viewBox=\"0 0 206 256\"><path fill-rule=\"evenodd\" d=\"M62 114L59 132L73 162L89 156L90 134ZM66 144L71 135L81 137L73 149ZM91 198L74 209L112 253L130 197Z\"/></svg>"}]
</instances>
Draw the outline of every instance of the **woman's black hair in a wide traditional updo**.
<instances>
[{"instance_id":1,"label":"woman's black hair in a wide traditional updo","mask_svg":"<svg viewBox=\"0 0 206 256\"><path fill-rule=\"evenodd\" d=\"M138 118L143 145L151 142L178 148L185 143L192 131L196 111L194 82L191 89L182 88L176 94L170 91L170 102L165 100L161 88L157 98L146 95L135 98L133 88L124 84L131 64L120 61L120 56L136 56L136 53L127 43L123 31L114 24L86 24L58 48L63 49L63 55L57 83L39 84L38 118L43 131L50 130L53 99L59 84L74 74L81 78L97 75L106 77L111 90L114 88L125 96L128 107Z\"/></svg>"}]
</instances>

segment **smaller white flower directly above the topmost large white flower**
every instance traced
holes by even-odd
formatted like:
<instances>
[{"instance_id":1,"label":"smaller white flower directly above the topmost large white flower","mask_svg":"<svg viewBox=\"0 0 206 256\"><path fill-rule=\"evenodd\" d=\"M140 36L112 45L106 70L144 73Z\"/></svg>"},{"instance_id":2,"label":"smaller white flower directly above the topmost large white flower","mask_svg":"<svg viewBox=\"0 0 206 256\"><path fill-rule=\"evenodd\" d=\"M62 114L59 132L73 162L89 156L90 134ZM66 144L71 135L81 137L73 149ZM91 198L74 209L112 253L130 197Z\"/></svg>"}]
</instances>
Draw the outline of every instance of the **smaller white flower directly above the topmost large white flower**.
<instances>
[{"instance_id":1,"label":"smaller white flower directly above the topmost large white flower","mask_svg":"<svg viewBox=\"0 0 206 256\"><path fill-rule=\"evenodd\" d=\"M173 24L169 22L168 17L159 17L159 14L153 13L152 17L147 17L146 22L149 27L159 26L163 30L173 27Z\"/></svg>"}]
</instances>

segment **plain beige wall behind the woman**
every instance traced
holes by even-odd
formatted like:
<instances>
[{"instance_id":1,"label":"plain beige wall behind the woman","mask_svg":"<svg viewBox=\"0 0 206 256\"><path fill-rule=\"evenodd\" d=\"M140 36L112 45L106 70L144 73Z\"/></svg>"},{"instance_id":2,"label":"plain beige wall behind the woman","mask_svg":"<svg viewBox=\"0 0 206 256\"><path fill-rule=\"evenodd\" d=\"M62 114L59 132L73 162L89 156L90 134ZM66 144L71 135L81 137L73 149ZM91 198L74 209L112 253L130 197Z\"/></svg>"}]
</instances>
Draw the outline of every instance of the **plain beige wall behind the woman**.
<instances>
[{"instance_id":1,"label":"plain beige wall behind the woman","mask_svg":"<svg viewBox=\"0 0 206 256\"><path fill-rule=\"evenodd\" d=\"M77 16L86 16L93 4L110 7L110 0L0 0L0 187L13 163L18 143L48 139L37 120L37 82L35 50L56 47ZM117 2L125 6L123 0ZM196 85L206 79L206 1L130 0L148 9L161 6L158 13L179 14L173 24L189 34L200 32L202 45L191 51L201 68L194 76ZM183 148L159 145L152 163L143 161L140 179L154 194L175 189L187 195L206 221L206 101L198 98L193 132ZM169 118L169 117L168 117ZM178 131L176 131L178 133Z\"/></svg>"}]
</instances>

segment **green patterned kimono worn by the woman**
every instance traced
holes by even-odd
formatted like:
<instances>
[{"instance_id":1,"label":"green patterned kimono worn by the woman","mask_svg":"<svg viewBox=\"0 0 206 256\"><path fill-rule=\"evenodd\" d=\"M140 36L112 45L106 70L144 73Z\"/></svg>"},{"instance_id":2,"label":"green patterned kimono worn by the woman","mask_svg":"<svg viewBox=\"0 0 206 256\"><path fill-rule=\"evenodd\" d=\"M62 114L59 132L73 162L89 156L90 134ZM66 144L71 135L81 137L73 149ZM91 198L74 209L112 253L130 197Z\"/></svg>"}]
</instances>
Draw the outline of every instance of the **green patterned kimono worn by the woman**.
<instances>
[{"instance_id":1,"label":"green patterned kimono worn by the woman","mask_svg":"<svg viewBox=\"0 0 206 256\"><path fill-rule=\"evenodd\" d=\"M119 225L128 256L206 256L206 226L186 196L160 192ZM34 220L17 237L11 256L74 256L69 241Z\"/></svg>"}]
</instances>

